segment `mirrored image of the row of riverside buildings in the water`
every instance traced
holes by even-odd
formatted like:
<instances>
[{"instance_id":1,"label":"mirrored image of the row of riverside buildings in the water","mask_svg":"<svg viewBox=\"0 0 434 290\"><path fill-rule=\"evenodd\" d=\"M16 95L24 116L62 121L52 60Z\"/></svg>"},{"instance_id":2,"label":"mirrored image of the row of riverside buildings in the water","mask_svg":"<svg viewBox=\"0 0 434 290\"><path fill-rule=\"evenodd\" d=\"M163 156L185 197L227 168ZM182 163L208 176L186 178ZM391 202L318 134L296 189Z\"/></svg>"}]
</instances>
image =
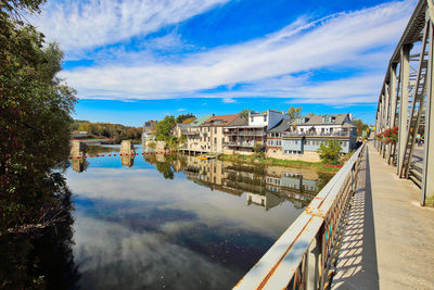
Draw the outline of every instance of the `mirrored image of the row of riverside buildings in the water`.
<instances>
[{"instance_id":1,"label":"mirrored image of the row of riverside buildings in the water","mask_svg":"<svg viewBox=\"0 0 434 290\"><path fill-rule=\"evenodd\" d=\"M291 201L295 207L306 206L319 192L319 178L316 173L289 172L288 167L251 166L221 162L219 160L201 160L184 156L183 172L194 182L230 194L246 193L248 205L263 206L266 211Z\"/></svg>"}]
</instances>

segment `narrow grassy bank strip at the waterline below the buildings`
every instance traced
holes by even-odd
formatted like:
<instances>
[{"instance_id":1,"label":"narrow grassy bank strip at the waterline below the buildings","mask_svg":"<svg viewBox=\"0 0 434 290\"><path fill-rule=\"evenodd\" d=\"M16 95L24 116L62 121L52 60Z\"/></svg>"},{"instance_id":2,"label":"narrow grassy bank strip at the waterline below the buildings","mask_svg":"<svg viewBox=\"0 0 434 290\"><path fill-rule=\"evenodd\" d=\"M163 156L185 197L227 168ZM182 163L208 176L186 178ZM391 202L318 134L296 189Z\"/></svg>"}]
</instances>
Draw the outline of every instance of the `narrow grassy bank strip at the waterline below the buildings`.
<instances>
[{"instance_id":1,"label":"narrow grassy bank strip at the waterline below the buildings","mask_svg":"<svg viewBox=\"0 0 434 290\"><path fill-rule=\"evenodd\" d=\"M222 154L218 157L222 161L232 161L235 163L247 163L247 164L263 164L270 166L284 166L293 168L307 168L315 169L317 172L335 173L340 168L327 167L322 162L307 162L298 160L280 160L272 157L256 157L254 155L242 155L242 154Z\"/></svg>"}]
</instances>

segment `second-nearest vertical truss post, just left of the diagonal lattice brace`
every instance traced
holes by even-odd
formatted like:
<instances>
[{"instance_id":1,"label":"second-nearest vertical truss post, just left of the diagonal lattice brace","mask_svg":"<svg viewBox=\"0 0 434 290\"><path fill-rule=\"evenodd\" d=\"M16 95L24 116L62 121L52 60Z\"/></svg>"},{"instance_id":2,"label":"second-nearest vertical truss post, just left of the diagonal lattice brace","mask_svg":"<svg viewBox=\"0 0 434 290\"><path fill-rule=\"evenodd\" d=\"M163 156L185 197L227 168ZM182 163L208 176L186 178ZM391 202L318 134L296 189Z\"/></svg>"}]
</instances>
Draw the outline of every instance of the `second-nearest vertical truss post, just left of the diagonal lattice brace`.
<instances>
[{"instance_id":1,"label":"second-nearest vertical truss post, just left of the diagonal lattice brace","mask_svg":"<svg viewBox=\"0 0 434 290\"><path fill-rule=\"evenodd\" d=\"M398 133L398 166L399 175L403 168L404 156L406 153L406 135L408 121L408 81L410 71L410 46L403 46L400 50L400 100L399 100L399 133Z\"/></svg>"}]
</instances>

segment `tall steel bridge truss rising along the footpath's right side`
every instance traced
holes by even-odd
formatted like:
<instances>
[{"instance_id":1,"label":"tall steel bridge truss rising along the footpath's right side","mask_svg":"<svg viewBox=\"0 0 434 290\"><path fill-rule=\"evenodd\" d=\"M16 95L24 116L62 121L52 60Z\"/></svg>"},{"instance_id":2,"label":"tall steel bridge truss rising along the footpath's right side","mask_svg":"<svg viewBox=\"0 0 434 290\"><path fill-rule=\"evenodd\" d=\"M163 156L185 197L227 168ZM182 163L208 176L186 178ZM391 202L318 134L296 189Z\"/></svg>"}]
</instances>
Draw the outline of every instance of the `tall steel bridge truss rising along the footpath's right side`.
<instances>
[{"instance_id":1,"label":"tall steel bridge truss rising along the footpath's right side","mask_svg":"<svg viewBox=\"0 0 434 290\"><path fill-rule=\"evenodd\" d=\"M375 136L398 127L398 140L375 139L375 148L400 178L421 187L421 205L434 201L433 53L434 3L420 0L388 63L376 109ZM420 162L413 159L418 134L424 135Z\"/></svg>"}]
</instances>

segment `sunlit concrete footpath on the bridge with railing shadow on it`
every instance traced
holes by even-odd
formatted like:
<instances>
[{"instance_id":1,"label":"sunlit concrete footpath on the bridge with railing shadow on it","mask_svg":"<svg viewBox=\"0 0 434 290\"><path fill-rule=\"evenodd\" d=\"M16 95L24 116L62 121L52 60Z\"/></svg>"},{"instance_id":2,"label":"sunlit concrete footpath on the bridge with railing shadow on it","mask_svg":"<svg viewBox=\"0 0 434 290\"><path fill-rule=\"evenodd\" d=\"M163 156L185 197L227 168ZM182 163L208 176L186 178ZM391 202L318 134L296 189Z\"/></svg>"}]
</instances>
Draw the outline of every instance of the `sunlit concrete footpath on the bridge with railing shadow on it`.
<instances>
[{"instance_id":1,"label":"sunlit concrete footpath on the bridge with railing shadow on it","mask_svg":"<svg viewBox=\"0 0 434 290\"><path fill-rule=\"evenodd\" d=\"M368 148L332 288L434 289L434 209Z\"/></svg>"}]
</instances>

